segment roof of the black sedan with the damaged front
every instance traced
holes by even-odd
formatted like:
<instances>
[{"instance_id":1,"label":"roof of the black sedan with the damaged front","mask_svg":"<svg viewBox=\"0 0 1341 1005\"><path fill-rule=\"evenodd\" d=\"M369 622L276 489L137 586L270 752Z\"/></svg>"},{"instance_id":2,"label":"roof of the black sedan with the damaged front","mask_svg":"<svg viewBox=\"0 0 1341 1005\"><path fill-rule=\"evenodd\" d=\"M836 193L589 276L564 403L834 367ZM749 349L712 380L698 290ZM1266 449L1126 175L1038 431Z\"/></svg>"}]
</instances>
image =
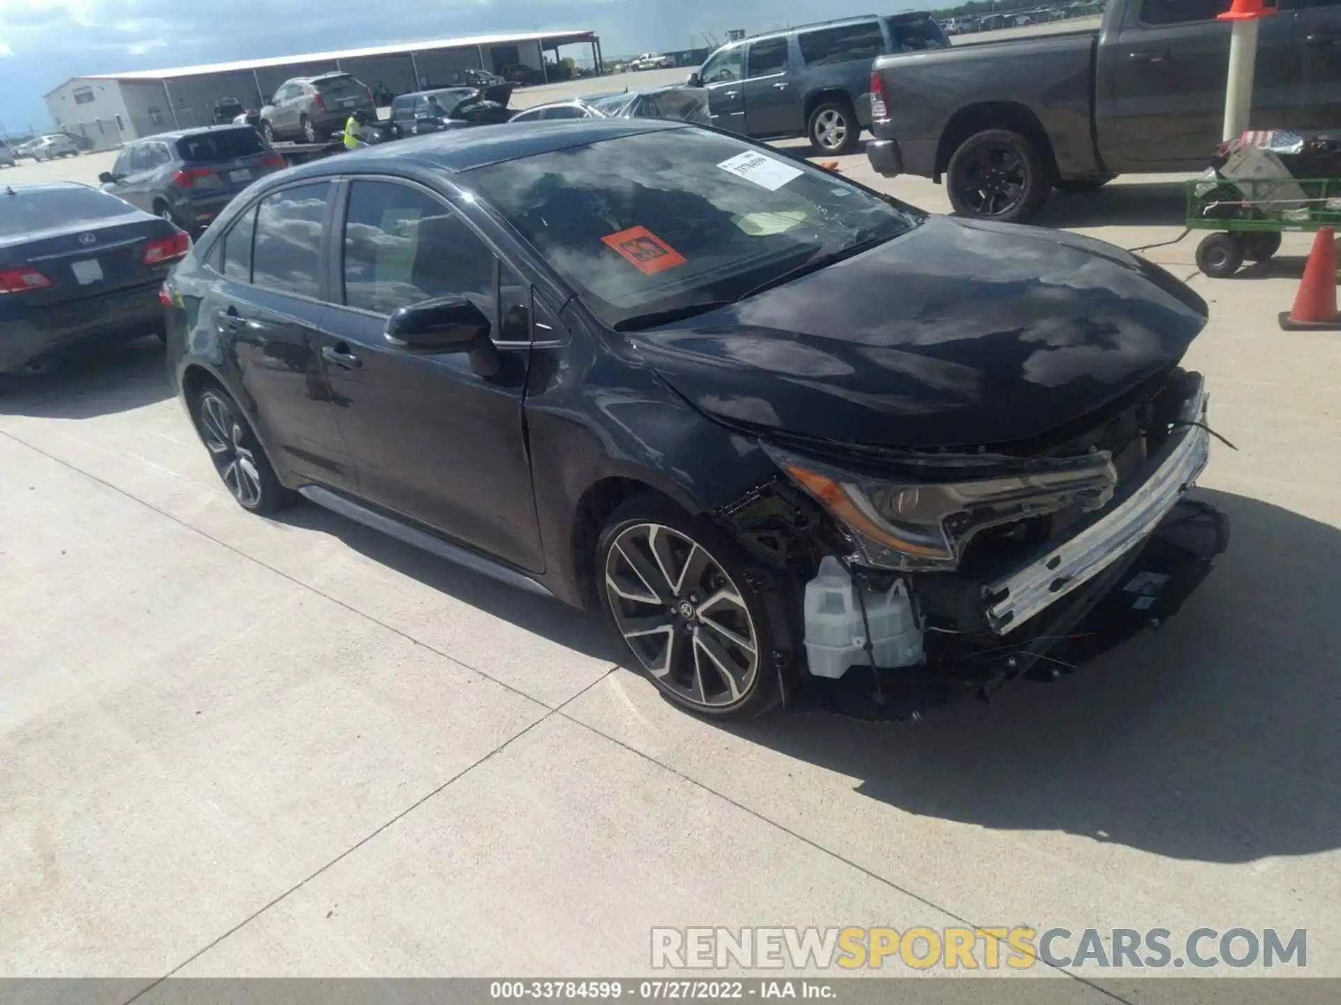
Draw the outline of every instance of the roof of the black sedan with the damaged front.
<instances>
[{"instance_id":1,"label":"roof of the black sedan with the damaged front","mask_svg":"<svg viewBox=\"0 0 1341 1005\"><path fill-rule=\"evenodd\" d=\"M567 102L565 102L567 103ZM530 109L526 109L530 111ZM349 168L375 172L392 163L457 173L488 163L516 161L555 150L570 150L603 139L692 129L684 122L662 119L567 119L563 122L511 122L499 126L453 129L396 143L375 143L350 153L311 161L284 172L286 178L330 177Z\"/></svg>"}]
</instances>

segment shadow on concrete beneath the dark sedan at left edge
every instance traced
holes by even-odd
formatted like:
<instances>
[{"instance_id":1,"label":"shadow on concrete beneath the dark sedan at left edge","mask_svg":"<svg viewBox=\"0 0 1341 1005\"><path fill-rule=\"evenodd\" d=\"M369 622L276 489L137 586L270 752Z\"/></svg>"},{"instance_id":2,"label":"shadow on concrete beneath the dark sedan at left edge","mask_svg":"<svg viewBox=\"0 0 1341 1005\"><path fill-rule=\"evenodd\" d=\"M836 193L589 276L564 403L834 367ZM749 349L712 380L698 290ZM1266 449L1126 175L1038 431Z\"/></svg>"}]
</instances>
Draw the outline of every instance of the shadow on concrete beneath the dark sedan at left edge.
<instances>
[{"instance_id":1,"label":"shadow on concrete beneath the dark sedan at left edge","mask_svg":"<svg viewBox=\"0 0 1341 1005\"><path fill-rule=\"evenodd\" d=\"M170 398L164 344L154 336L99 347L35 374L0 375L0 415L94 418Z\"/></svg>"}]
</instances>

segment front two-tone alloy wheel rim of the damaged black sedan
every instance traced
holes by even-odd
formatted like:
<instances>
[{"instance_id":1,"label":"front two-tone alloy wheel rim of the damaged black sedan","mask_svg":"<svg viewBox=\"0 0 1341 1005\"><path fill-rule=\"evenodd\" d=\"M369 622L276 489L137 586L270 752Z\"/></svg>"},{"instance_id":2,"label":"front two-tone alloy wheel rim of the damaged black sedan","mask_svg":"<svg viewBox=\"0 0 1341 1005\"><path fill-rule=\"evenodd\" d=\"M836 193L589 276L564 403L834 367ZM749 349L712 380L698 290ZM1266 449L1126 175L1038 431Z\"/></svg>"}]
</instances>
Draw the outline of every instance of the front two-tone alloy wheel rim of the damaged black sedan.
<instances>
[{"instance_id":1,"label":"front two-tone alloy wheel rim of the damaged black sedan","mask_svg":"<svg viewBox=\"0 0 1341 1005\"><path fill-rule=\"evenodd\" d=\"M661 687L700 708L750 694L759 636L707 548L664 524L633 524L610 543L605 586L620 634Z\"/></svg>"}]
</instances>

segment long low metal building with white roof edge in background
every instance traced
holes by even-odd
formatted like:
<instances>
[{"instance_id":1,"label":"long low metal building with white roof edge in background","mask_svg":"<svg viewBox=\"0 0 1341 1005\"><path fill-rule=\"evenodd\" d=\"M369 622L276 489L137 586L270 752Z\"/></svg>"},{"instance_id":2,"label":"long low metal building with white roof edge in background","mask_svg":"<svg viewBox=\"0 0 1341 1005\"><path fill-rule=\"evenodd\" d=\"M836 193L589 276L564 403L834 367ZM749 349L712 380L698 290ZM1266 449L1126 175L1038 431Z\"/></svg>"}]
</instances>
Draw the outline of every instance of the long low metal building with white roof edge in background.
<instances>
[{"instance_id":1,"label":"long low metal building with white roof edge in background","mask_svg":"<svg viewBox=\"0 0 1341 1005\"><path fill-rule=\"evenodd\" d=\"M107 149L169 129L209 125L213 105L221 98L237 98L243 106L259 109L292 76L342 70L369 87L380 83L392 94L449 87L460 82L461 71L472 68L502 74L522 66L543 80L548 79L546 56L557 64L561 46L582 46L574 62L594 66L601 72L601 40L590 31L476 35L341 52L74 76L48 91L46 102L58 130L84 137L94 149ZM587 46L590 59L586 58Z\"/></svg>"}]
</instances>

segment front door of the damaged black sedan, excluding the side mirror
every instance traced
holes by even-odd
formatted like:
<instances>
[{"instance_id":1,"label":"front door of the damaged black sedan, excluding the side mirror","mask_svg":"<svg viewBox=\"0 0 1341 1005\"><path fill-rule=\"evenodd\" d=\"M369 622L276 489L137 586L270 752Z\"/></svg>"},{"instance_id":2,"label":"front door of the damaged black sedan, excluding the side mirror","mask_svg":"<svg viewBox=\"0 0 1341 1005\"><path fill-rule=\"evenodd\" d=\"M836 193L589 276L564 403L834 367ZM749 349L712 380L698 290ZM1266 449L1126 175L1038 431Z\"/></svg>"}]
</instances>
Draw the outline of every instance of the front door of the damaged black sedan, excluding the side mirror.
<instances>
[{"instance_id":1,"label":"front door of the damaged black sedan, excluding the side mirror","mask_svg":"<svg viewBox=\"0 0 1341 1005\"><path fill-rule=\"evenodd\" d=\"M400 182L350 184L343 248L325 355L359 494L543 571L522 418L530 320L520 281L443 200ZM465 352L386 342L392 311L440 296L465 296L489 318L496 374L476 374Z\"/></svg>"}]
</instances>

